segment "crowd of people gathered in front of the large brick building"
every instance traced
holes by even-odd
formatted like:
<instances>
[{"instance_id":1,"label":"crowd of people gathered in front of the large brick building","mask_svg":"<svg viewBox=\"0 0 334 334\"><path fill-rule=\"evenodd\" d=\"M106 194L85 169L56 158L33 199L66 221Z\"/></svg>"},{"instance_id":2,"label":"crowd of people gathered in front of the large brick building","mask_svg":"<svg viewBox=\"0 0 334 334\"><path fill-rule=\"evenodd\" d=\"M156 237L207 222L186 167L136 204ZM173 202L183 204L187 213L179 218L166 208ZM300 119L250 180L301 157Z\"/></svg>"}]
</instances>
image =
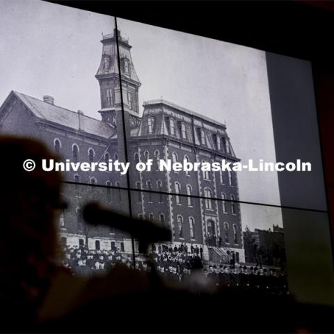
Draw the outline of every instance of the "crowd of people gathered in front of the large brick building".
<instances>
[{"instance_id":1,"label":"crowd of people gathered in front of the large brick building","mask_svg":"<svg viewBox=\"0 0 334 334\"><path fill-rule=\"evenodd\" d=\"M133 268L132 255L120 251L92 250L86 246L64 246L63 265L74 275L91 277L105 273L116 263ZM152 245L149 257L137 255L134 269L151 271L151 264L159 275L174 283L186 283L191 273L202 272L218 288L260 289L273 294L287 294L287 277L275 268L238 263L213 263L203 261L202 247L184 244Z\"/></svg>"}]
</instances>

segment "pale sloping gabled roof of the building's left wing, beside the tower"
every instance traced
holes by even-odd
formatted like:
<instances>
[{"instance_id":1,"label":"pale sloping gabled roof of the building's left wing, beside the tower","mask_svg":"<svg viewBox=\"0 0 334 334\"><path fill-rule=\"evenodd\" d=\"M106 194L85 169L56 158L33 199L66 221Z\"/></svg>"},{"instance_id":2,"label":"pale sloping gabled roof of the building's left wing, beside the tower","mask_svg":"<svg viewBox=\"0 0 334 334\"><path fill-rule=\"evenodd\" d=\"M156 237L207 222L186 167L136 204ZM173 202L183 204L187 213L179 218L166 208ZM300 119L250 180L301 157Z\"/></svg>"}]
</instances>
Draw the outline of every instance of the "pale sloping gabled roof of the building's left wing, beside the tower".
<instances>
[{"instance_id":1,"label":"pale sloping gabled roof of the building's left wing, beside the tower","mask_svg":"<svg viewBox=\"0 0 334 334\"><path fill-rule=\"evenodd\" d=\"M83 113L70 111L19 92L12 91L10 95L12 94L16 95L36 117L42 120L102 138L111 138L116 134L116 129L108 123L85 116Z\"/></svg>"}]
</instances>

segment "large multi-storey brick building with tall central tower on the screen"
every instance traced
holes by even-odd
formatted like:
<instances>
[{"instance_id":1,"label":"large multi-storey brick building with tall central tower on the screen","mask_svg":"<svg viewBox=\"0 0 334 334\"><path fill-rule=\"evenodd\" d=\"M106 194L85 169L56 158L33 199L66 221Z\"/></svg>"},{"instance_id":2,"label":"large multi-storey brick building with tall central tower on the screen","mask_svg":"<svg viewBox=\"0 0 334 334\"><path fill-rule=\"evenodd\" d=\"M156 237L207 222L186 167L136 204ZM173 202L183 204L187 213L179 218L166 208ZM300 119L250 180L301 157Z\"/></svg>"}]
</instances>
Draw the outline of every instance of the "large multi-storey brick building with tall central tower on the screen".
<instances>
[{"instance_id":1,"label":"large multi-storey brick building with tall central tower on the screen","mask_svg":"<svg viewBox=\"0 0 334 334\"><path fill-rule=\"evenodd\" d=\"M129 237L106 228L88 228L79 215L80 207L90 198L102 200L113 208L121 206L127 211L127 191L117 187L129 186L161 191L132 191L132 214L170 226L173 243L202 246L205 258L210 260L218 260L234 251L237 260L244 262L239 203L224 201L239 200L237 174L157 169L159 159L239 161L225 125L205 117L205 111L194 113L164 100L144 102L143 115L140 116L138 89L141 83L132 61L131 46L119 31L118 36L122 87L116 31L104 35L101 41L102 58L95 77L100 84L101 109L98 112L102 120L85 116L82 111L56 106L50 96L41 101L12 91L0 109L1 132L37 136L62 159L128 159L131 163L129 184L127 177L116 172L65 173L65 180L78 183L77 186L67 184L64 191L71 203L60 223L67 244L88 244L90 248L102 249L116 246L130 252ZM136 162L147 159L154 161L152 171L138 172ZM81 186L80 182L112 188ZM188 196L180 196L182 194Z\"/></svg>"}]
</instances>

